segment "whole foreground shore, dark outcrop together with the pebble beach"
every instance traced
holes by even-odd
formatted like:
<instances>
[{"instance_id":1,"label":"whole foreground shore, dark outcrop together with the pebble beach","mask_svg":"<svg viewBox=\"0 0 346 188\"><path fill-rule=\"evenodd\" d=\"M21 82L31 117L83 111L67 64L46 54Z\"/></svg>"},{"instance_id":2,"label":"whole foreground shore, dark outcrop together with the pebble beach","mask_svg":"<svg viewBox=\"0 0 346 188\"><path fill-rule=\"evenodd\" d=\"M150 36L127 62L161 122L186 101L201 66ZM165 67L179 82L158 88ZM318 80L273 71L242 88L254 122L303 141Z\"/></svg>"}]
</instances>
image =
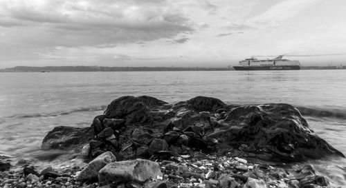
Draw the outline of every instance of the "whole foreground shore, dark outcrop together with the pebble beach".
<instances>
[{"instance_id":1,"label":"whole foreground shore, dark outcrop together with the pebble beach","mask_svg":"<svg viewBox=\"0 0 346 188\"><path fill-rule=\"evenodd\" d=\"M12 167L3 166L0 187L330 187L311 165L293 162L344 157L291 105L207 97L173 105L118 98L91 127L55 127L42 149L74 152L51 162L3 156Z\"/></svg>"}]
</instances>

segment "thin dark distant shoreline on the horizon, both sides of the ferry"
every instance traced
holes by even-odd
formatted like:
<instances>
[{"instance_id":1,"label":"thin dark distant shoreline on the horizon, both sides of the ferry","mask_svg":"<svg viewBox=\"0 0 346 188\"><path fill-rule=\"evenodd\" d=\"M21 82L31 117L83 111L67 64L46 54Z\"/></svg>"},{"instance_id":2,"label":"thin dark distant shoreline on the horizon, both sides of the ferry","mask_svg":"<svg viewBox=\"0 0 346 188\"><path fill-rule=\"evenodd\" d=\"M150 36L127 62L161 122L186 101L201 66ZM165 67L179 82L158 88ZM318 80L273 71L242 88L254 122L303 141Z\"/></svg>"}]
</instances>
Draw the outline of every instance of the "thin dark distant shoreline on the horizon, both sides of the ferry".
<instances>
[{"instance_id":1,"label":"thin dark distant shoreline on the horizon, both sides of the ferry","mask_svg":"<svg viewBox=\"0 0 346 188\"><path fill-rule=\"evenodd\" d=\"M346 66L302 66L301 70L345 70ZM99 67L99 66L17 66L0 72L153 72L153 71L233 71L233 67Z\"/></svg>"}]
</instances>

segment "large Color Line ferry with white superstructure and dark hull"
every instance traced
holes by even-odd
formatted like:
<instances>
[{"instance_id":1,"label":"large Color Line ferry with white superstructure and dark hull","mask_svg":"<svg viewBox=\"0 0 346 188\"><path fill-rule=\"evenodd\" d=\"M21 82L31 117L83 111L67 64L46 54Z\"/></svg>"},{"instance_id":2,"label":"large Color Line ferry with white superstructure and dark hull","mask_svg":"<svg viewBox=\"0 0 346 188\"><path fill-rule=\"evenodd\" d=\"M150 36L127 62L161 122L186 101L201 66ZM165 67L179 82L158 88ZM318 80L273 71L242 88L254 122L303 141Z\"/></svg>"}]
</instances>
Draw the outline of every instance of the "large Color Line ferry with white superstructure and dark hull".
<instances>
[{"instance_id":1,"label":"large Color Line ferry with white superstructure and dark hull","mask_svg":"<svg viewBox=\"0 0 346 188\"><path fill-rule=\"evenodd\" d=\"M238 66L233 66L235 70L300 70L300 62L282 59L283 55L275 59L259 60L252 57L239 61Z\"/></svg>"}]
</instances>

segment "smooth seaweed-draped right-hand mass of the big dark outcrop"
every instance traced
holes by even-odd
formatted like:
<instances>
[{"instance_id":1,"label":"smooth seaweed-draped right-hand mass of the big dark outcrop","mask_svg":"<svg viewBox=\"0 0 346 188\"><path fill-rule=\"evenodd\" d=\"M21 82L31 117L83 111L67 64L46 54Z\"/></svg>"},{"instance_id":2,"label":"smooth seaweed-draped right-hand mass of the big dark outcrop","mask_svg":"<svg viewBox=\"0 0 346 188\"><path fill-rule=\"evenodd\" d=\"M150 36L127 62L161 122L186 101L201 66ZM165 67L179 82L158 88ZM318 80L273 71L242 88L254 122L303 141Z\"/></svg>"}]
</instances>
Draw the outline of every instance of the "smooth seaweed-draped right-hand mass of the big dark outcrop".
<instances>
[{"instance_id":1,"label":"smooth seaweed-draped right-hand mass of the big dark outcrop","mask_svg":"<svg viewBox=\"0 0 346 188\"><path fill-rule=\"evenodd\" d=\"M237 107L221 121L226 126L212 137L229 145L251 145L260 157L279 160L321 158L328 154L345 157L309 128L298 109L287 104Z\"/></svg>"}]
</instances>

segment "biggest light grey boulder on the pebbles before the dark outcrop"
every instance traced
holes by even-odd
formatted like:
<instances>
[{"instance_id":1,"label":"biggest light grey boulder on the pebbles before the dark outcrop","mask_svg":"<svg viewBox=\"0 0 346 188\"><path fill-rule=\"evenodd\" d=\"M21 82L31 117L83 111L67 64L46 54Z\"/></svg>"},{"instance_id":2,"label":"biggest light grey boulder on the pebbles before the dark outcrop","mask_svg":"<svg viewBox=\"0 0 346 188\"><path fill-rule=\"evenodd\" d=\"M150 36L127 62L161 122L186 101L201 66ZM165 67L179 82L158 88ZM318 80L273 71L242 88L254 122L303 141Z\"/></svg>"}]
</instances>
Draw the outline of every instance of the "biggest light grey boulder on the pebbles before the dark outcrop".
<instances>
[{"instance_id":1,"label":"biggest light grey boulder on the pebbles before the dark outcrop","mask_svg":"<svg viewBox=\"0 0 346 188\"><path fill-rule=\"evenodd\" d=\"M136 159L109 163L98 174L100 185L111 182L144 182L149 178L163 176L158 163Z\"/></svg>"}]
</instances>

